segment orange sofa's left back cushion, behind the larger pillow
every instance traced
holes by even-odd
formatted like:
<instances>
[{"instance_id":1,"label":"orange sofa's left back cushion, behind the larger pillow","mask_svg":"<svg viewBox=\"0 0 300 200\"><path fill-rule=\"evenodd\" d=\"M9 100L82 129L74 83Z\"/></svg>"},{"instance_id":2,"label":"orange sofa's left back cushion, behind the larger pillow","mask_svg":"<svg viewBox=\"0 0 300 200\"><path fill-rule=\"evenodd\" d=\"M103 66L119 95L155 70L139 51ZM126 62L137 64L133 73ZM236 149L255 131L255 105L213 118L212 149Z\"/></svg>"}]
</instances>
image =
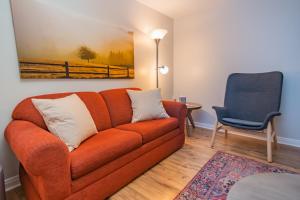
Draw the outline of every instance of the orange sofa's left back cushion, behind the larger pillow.
<instances>
[{"instance_id":1,"label":"orange sofa's left back cushion, behind the larger pillow","mask_svg":"<svg viewBox=\"0 0 300 200\"><path fill-rule=\"evenodd\" d=\"M71 94L74 93L47 94L24 99L16 106L15 110L13 111L12 118L15 120L30 121L47 130L47 126L41 114L34 107L31 99L56 99ZM75 94L80 97L80 99L85 103L87 109L90 111L98 131L111 128L109 112L101 95L96 92L75 92Z\"/></svg>"}]
</instances>

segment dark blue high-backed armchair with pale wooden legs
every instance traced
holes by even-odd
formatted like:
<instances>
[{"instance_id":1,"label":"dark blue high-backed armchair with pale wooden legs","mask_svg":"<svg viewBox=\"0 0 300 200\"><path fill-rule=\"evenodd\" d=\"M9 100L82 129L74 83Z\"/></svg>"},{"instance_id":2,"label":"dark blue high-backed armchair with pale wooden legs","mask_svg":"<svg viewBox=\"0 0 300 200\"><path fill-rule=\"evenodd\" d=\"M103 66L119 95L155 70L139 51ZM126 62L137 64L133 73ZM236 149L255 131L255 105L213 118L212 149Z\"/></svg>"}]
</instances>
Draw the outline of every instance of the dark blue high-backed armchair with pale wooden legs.
<instances>
[{"instance_id":1,"label":"dark blue high-backed armchair with pale wooden legs","mask_svg":"<svg viewBox=\"0 0 300 200\"><path fill-rule=\"evenodd\" d=\"M227 80L224 107L213 106L217 114L211 147L216 132L230 127L252 131L267 129L268 161L272 162L272 141L277 145L274 117L279 112L283 74L268 72L257 74L231 74ZM245 134L246 135L246 134Z\"/></svg>"}]
</instances>

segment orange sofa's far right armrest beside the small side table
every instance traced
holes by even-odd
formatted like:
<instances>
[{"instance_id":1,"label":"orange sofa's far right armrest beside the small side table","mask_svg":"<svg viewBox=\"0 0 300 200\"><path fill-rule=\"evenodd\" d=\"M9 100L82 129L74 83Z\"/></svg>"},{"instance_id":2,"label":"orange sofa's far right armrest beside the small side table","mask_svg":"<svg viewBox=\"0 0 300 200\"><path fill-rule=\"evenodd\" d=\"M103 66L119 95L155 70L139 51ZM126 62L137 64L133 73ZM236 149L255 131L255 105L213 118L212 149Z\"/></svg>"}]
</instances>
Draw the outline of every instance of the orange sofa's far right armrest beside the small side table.
<instances>
[{"instance_id":1,"label":"orange sofa's far right armrest beside the small side table","mask_svg":"<svg viewBox=\"0 0 300 200\"><path fill-rule=\"evenodd\" d=\"M176 101L162 101L164 108L171 117L178 119L180 131L184 133L185 118L187 113L186 105Z\"/></svg>"}]
</instances>

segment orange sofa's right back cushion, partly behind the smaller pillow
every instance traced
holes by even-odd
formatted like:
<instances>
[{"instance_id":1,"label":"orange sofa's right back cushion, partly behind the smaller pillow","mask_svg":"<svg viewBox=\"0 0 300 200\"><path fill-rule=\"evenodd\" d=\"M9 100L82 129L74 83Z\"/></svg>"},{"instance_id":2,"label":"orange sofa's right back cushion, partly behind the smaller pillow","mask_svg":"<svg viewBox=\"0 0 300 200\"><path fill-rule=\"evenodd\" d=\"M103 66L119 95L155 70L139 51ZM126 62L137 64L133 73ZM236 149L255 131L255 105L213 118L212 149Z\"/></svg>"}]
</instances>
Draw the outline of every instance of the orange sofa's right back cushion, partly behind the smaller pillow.
<instances>
[{"instance_id":1,"label":"orange sofa's right back cushion, partly behind the smaller pillow","mask_svg":"<svg viewBox=\"0 0 300 200\"><path fill-rule=\"evenodd\" d=\"M132 119L131 100L127 90L141 90L139 88L120 88L100 92L107 105L113 127L127 124Z\"/></svg>"}]
</instances>

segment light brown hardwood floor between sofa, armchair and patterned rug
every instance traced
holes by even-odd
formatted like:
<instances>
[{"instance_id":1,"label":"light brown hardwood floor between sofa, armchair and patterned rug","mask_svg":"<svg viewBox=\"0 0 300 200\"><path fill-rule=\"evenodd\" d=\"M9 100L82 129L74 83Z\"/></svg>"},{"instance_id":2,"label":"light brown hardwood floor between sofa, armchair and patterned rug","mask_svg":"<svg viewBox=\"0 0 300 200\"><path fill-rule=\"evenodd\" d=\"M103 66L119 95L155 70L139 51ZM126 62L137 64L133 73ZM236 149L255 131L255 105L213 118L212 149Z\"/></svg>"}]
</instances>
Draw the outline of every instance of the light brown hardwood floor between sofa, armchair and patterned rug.
<instances>
[{"instance_id":1,"label":"light brown hardwood floor between sofa, armchair and patterned rug","mask_svg":"<svg viewBox=\"0 0 300 200\"><path fill-rule=\"evenodd\" d=\"M266 142L228 135L218 134L214 149L209 148L211 131L190 129L191 136L186 138L184 147L167 159L161 161L151 170L135 179L110 200L171 200L196 175L201 167L218 150L247 156L266 162ZM300 148L279 145L274 150L273 165L279 165L300 172ZM24 200L22 189L16 188L7 193L8 200Z\"/></svg>"}]
</instances>

